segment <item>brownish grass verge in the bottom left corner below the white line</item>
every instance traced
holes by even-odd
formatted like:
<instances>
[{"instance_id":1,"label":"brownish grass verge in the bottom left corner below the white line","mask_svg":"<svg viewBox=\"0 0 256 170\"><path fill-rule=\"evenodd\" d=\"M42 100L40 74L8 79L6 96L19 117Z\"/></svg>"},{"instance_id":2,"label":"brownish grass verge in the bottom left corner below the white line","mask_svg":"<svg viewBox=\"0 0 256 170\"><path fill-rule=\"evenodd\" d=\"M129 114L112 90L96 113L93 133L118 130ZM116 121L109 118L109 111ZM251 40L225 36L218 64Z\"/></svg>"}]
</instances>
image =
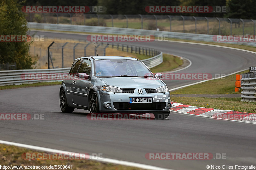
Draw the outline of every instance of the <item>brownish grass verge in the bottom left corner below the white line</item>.
<instances>
[{"instance_id":1,"label":"brownish grass verge in the bottom left corner below the white line","mask_svg":"<svg viewBox=\"0 0 256 170\"><path fill-rule=\"evenodd\" d=\"M74 170L141 170L140 168L122 166L108 163L101 163L93 160L24 160L22 153L34 153L35 151L11 145L0 144L0 163L5 166L54 166L71 165ZM37 152L36 153L43 153ZM25 168L23 168L25 169Z\"/></svg>"}]
</instances>

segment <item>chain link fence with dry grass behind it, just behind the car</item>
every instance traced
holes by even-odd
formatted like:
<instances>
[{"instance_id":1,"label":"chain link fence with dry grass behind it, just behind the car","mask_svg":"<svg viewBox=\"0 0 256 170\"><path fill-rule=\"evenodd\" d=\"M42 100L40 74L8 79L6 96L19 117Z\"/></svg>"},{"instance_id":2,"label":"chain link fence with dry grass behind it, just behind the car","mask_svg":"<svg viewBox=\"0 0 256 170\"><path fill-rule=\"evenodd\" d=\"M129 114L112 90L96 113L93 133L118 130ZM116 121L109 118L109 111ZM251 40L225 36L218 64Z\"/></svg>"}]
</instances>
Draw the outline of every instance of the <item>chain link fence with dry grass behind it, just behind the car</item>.
<instances>
[{"instance_id":1,"label":"chain link fence with dry grass behind it, just behind the car","mask_svg":"<svg viewBox=\"0 0 256 170\"><path fill-rule=\"evenodd\" d=\"M50 45L50 44L49 44ZM96 46L96 48L95 48ZM91 42L63 42L53 43L50 47L50 68L70 67L76 58L83 56L112 55L106 54L106 48L115 48L119 51L129 53L142 54L147 56L156 56L161 52L152 48L144 48L138 46L124 45L118 43L91 43ZM97 49L97 50L96 50ZM48 68L48 52L47 49L30 47L30 55L37 60L36 69Z\"/></svg>"}]
</instances>

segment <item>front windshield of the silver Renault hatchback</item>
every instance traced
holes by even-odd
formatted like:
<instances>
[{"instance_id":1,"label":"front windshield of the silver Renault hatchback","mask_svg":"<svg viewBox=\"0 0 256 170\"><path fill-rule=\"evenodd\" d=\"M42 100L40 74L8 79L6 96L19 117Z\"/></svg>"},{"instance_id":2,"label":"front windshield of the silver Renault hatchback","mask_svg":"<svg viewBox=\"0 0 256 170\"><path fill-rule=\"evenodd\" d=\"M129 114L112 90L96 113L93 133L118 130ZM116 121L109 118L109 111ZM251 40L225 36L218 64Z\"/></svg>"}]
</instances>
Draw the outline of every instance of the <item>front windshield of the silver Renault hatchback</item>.
<instances>
[{"instance_id":1,"label":"front windshield of the silver Renault hatchback","mask_svg":"<svg viewBox=\"0 0 256 170\"><path fill-rule=\"evenodd\" d=\"M151 71L139 60L95 60L94 70L95 75L99 78L153 77Z\"/></svg>"}]
</instances>

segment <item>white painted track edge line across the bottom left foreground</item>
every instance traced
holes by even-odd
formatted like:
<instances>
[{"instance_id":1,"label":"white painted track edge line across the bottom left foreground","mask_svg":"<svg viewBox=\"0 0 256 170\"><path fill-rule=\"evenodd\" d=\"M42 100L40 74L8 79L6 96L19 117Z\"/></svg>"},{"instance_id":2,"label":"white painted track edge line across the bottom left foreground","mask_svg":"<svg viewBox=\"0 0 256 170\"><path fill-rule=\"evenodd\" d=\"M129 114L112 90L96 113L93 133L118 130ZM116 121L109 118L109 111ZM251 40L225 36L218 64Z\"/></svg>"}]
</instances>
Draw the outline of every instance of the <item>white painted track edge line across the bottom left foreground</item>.
<instances>
[{"instance_id":1,"label":"white painted track edge line across the bottom left foreground","mask_svg":"<svg viewBox=\"0 0 256 170\"><path fill-rule=\"evenodd\" d=\"M32 149L32 150L36 150L36 151L43 151L43 152L48 152L48 153L74 153L74 152L68 152L68 151L61 151L61 150L57 150L57 149L44 148L44 147L40 147L40 146L8 142L8 141L3 141L3 140L0 140L0 144L18 146L18 147L22 147L22 148ZM104 163L112 163L112 164L118 164L118 165L124 165L124 166L133 166L133 167L142 168L142 169L172 170L172 169L166 169L166 168L161 168L161 167L157 167L157 166L151 166L151 165L146 165L146 164L118 160L118 159L110 159L110 158L102 158L102 157L100 157L100 159L97 159L97 158L95 159L95 156L92 156L92 155L90 155L90 158L92 158L92 159L88 159L88 160L94 160L94 161L100 161L100 162L104 162Z\"/></svg>"}]
</instances>

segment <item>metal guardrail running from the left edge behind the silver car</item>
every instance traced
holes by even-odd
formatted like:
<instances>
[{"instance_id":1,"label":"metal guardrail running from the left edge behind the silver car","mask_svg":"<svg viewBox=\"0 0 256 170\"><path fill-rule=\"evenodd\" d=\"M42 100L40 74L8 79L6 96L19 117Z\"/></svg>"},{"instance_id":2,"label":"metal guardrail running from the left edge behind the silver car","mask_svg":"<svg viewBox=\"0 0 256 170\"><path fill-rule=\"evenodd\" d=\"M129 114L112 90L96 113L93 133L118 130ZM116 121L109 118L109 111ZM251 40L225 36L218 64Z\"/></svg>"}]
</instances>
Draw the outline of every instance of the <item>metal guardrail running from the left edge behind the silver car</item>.
<instances>
[{"instance_id":1,"label":"metal guardrail running from the left edge behind the silver car","mask_svg":"<svg viewBox=\"0 0 256 170\"><path fill-rule=\"evenodd\" d=\"M145 63L148 68L153 68L163 62L163 53L161 52L154 57L141 61ZM69 70L70 68L4 70L0 71L0 86L62 81L66 75L68 75Z\"/></svg>"}]
</instances>

